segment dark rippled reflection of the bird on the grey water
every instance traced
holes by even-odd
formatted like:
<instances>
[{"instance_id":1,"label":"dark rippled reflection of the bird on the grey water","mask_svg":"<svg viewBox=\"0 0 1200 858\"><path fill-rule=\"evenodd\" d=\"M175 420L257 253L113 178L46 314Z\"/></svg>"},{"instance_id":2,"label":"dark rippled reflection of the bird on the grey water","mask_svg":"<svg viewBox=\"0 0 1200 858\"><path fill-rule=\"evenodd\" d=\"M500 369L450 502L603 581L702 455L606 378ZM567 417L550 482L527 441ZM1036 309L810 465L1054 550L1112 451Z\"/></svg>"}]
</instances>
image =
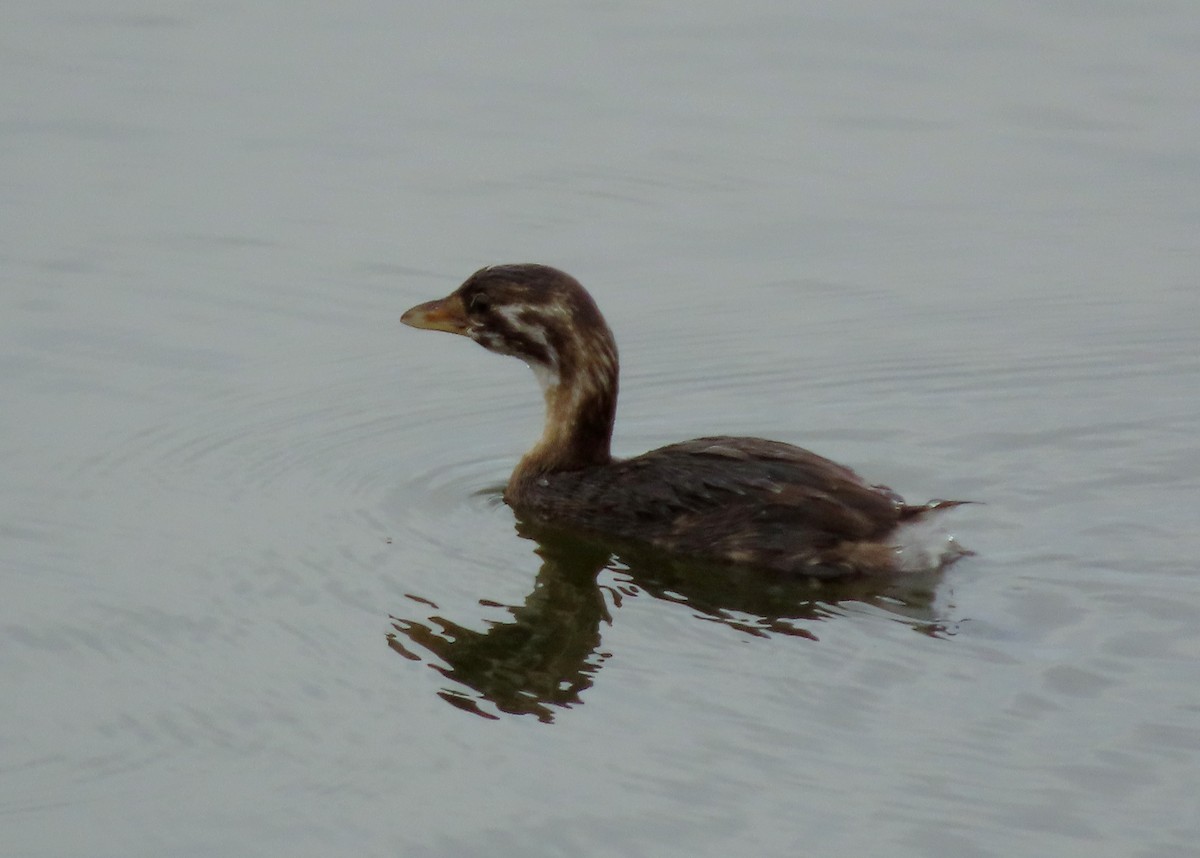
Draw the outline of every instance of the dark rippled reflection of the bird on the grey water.
<instances>
[{"instance_id":1,"label":"dark rippled reflection of the bird on the grey water","mask_svg":"<svg viewBox=\"0 0 1200 858\"><path fill-rule=\"evenodd\" d=\"M511 622L493 622L486 631L475 631L442 617L426 622L391 617L395 631L388 635L389 646L407 659L420 661L421 655L406 643L439 659L442 664L432 666L466 688L443 689L438 695L482 718L497 718L480 707L482 701L499 712L532 714L545 722L553 721L554 707L581 703L580 695L610 656L600 649L600 624L612 622L608 602L619 608L624 598L643 593L685 605L698 619L760 637L775 632L816 641L796 620L841 616L842 602L881 607L923 634L947 634L934 610L937 574L899 581L818 582L688 563L624 546L616 556L619 562L613 562L611 544L601 547L528 523L517 529L538 542L542 565L524 604L503 606ZM598 575L604 569L612 570L618 581L601 586ZM409 598L437 610L426 599Z\"/></svg>"}]
</instances>

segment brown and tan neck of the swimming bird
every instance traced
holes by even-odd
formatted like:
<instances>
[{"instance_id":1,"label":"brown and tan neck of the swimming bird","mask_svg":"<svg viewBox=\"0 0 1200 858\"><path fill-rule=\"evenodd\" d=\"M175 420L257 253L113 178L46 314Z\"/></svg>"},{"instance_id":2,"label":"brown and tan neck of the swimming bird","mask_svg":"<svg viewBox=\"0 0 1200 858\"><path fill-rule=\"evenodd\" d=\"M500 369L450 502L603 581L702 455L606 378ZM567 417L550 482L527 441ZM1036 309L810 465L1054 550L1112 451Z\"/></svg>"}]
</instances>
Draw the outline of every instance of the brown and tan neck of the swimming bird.
<instances>
[{"instance_id":1,"label":"brown and tan neck of the swimming bird","mask_svg":"<svg viewBox=\"0 0 1200 858\"><path fill-rule=\"evenodd\" d=\"M510 487L545 474L611 462L617 415L616 350L574 366L535 365L534 373L546 397L546 422L541 438L512 473Z\"/></svg>"}]
</instances>

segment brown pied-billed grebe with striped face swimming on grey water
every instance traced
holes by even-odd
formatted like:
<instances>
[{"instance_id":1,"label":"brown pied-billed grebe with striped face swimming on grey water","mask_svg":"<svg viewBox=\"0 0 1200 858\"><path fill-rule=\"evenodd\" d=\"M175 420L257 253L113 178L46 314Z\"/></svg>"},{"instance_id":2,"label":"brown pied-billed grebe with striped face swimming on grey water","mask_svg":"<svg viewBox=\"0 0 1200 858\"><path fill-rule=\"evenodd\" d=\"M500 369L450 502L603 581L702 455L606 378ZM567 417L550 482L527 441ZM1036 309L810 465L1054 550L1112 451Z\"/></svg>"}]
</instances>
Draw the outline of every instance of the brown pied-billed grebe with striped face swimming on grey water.
<instances>
[{"instance_id":1,"label":"brown pied-billed grebe with striped face swimming on grey water","mask_svg":"<svg viewBox=\"0 0 1200 858\"><path fill-rule=\"evenodd\" d=\"M481 269L401 322L461 334L533 368L546 396L545 431L504 499L534 521L683 557L832 577L901 571L898 532L961 503L912 506L836 462L761 438L697 438L613 458L617 343L578 281L546 265Z\"/></svg>"}]
</instances>

